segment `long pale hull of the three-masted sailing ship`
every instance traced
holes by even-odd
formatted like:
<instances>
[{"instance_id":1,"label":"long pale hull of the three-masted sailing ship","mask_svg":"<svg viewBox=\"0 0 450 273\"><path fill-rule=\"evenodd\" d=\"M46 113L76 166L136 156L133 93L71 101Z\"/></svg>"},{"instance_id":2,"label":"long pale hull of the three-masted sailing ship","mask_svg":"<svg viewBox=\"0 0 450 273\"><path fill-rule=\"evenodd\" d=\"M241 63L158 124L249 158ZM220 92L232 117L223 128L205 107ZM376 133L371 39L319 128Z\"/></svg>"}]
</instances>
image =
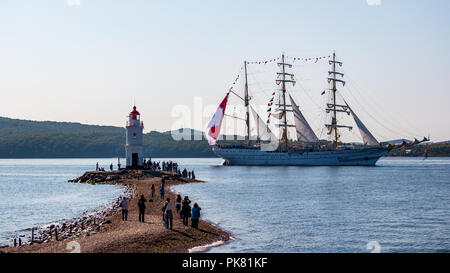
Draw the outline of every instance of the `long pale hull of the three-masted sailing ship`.
<instances>
[{"instance_id":1,"label":"long pale hull of the three-masted sailing ship","mask_svg":"<svg viewBox=\"0 0 450 273\"><path fill-rule=\"evenodd\" d=\"M226 165L247 166L375 166L387 148L322 150L304 152L266 152L259 149L213 147Z\"/></svg>"}]
</instances>

